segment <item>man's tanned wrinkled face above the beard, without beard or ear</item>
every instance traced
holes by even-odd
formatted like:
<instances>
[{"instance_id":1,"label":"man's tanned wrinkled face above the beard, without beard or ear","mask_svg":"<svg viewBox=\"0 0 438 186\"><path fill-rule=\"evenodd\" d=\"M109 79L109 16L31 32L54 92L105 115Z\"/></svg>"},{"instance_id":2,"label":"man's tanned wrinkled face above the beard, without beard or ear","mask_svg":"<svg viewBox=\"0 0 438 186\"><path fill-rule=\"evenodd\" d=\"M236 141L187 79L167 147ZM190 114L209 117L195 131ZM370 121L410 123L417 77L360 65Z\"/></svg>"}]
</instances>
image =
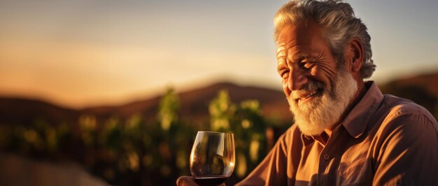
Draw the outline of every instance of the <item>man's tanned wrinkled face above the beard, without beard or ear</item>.
<instances>
[{"instance_id":1,"label":"man's tanned wrinkled face above the beard, without beard or ear","mask_svg":"<svg viewBox=\"0 0 438 186\"><path fill-rule=\"evenodd\" d=\"M283 28L277 41L277 66L286 96L293 90L302 89L309 80L316 80L330 89L330 80L337 71L332 52L313 21ZM306 101L306 94L297 96L294 98L297 103Z\"/></svg>"}]
</instances>

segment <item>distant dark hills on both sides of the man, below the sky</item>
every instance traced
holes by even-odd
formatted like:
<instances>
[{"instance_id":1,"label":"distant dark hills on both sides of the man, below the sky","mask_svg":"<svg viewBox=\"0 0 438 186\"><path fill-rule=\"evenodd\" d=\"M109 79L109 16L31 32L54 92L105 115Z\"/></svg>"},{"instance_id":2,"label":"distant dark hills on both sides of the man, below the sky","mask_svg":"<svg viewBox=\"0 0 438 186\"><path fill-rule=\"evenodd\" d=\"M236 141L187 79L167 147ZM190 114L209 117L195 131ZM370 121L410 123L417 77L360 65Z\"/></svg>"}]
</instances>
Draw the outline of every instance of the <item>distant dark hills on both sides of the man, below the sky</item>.
<instances>
[{"instance_id":1,"label":"distant dark hills on both sides of the man, below the sky","mask_svg":"<svg viewBox=\"0 0 438 186\"><path fill-rule=\"evenodd\" d=\"M437 105L438 72L394 80L379 87L383 93L411 99L433 113ZM232 83L216 83L187 92L179 92L181 119L195 122L195 124L208 123L209 103L220 90L227 90L234 103L257 99L262 105L264 116L271 118L272 121L281 124L292 122L288 103L281 90ZM0 98L0 124L33 124L39 120L51 124L75 124L80 115L94 115L98 121L105 121L112 116L123 120L134 114L143 116L146 122L153 122L156 120L160 99L161 96L155 96L120 106L97 106L76 110L40 100Z\"/></svg>"}]
</instances>

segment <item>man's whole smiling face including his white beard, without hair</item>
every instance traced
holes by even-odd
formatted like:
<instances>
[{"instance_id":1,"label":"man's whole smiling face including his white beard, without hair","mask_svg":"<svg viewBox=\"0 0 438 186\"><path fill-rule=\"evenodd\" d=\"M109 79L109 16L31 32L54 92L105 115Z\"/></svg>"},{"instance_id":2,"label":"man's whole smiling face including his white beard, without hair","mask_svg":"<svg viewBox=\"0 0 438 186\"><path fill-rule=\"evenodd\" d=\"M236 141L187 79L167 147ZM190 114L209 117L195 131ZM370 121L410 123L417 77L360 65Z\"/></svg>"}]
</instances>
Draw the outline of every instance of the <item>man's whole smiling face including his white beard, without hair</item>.
<instances>
[{"instance_id":1,"label":"man's whole smiling face including his white beard, without hair","mask_svg":"<svg viewBox=\"0 0 438 186\"><path fill-rule=\"evenodd\" d=\"M358 90L344 65L338 66L320 27L300 22L283 28L277 41L277 66L295 123L306 135L331 129Z\"/></svg>"}]
</instances>

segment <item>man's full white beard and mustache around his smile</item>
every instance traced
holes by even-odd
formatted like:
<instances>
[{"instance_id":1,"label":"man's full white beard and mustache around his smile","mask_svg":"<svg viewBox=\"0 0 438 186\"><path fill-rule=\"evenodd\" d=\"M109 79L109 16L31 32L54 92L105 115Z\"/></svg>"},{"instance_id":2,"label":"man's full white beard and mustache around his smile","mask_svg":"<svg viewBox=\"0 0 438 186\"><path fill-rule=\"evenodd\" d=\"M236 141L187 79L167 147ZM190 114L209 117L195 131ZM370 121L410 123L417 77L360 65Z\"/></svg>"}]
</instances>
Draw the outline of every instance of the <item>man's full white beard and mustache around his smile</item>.
<instances>
[{"instance_id":1,"label":"man's full white beard and mustache around his smile","mask_svg":"<svg viewBox=\"0 0 438 186\"><path fill-rule=\"evenodd\" d=\"M308 84L304 86L304 90L292 91L288 102L299 130L305 135L314 136L323 133L324 129L331 129L339 122L348 103L358 90L358 83L351 73L340 69L331 90L327 90L327 85L324 86L323 83L309 82ZM311 91L315 88L323 88L323 94L314 95L313 99L298 106L295 101L298 92Z\"/></svg>"}]
</instances>

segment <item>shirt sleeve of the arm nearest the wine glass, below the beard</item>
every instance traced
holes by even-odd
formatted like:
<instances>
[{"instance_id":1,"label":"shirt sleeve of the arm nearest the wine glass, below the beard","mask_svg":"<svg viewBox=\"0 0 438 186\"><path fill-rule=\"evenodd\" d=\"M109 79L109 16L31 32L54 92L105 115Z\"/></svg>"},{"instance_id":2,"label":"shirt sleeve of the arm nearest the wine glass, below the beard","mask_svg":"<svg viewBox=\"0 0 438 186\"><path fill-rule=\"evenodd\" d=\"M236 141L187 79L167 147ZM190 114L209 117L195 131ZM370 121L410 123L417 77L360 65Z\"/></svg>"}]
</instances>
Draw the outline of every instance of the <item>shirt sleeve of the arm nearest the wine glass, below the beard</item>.
<instances>
[{"instance_id":1,"label":"shirt sleeve of the arm nearest the wine glass, below the beard","mask_svg":"<svg viewBox=\"0 0 438 186\"><path fill-rule=\"evenodd\" d=\"M263 161L237 185L288 185L288 152L296 128L293 125L282 134Z\"/></svg>"}]
</instances>

